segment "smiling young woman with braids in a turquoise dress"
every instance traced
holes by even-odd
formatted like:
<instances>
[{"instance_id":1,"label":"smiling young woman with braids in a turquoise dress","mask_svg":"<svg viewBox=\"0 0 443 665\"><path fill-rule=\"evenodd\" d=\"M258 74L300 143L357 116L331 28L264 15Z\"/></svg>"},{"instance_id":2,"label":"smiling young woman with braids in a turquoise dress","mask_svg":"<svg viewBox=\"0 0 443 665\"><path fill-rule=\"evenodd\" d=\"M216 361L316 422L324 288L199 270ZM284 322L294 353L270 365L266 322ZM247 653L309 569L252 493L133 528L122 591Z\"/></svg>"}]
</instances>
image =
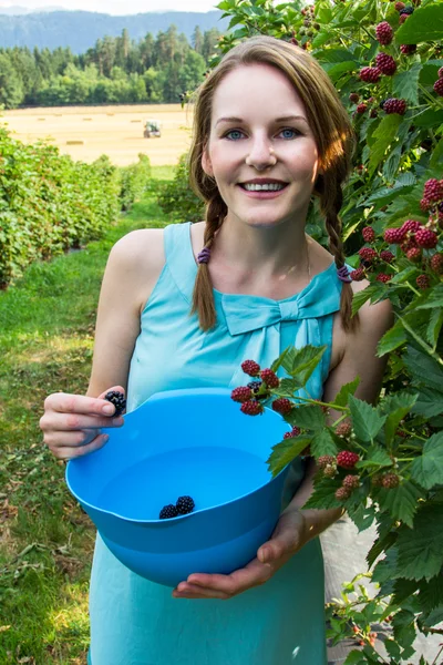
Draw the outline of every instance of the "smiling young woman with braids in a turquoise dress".
<instances>
[{"instance_id":1,"label":"smiling young woman with braids in a turquoise dress","mask_svg":"<svg viewBox=\"0 0 443 665\"><path fill-rule=\"evenodd\" d=\"M87 396L55 393L41 420L69 459L121 427L102 399L126 389L128 410L161 390L244 382L289 345L328 352L309 380L332 400L357 375L373 401L391 325L388 301L351 320L352 291L338 213L352 130L328 76L303 50L268 37L234 48L195 105L192 185L206 219L137 231L112 249L100 296ZM328 252L305 233L320 197ZM257 557L230 575L195 571L171 591L123 566L97 538L90 611L92 665L323 665L321 531L337 510L300 510L313 464L296 461L288 505ZM222 602L228 600L228 602ZM205 602L203 602L205 601Z\"/></svg>"}]
</instances>

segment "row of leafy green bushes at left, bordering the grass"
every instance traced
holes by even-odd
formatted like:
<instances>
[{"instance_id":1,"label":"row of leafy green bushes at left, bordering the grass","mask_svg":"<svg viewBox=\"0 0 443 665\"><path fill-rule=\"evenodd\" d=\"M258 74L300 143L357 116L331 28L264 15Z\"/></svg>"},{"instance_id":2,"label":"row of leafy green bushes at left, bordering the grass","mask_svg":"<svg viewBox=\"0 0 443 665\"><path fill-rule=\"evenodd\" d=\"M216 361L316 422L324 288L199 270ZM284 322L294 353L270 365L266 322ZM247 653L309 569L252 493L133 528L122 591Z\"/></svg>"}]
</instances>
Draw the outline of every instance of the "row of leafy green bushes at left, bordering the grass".
<instances>
[{"instance_id":1,"label":"row of leafy green bushes at left, bordering the grass","mask_svg":"<svg viewBox=\"0 0 443 665\"><path fill-rule=\"evenodd\" d=\"M47 143L25 145L0 127L0 288L32 262L102 236L146 188L150 161L74 162Z\"/></svg>"}]
</instances>

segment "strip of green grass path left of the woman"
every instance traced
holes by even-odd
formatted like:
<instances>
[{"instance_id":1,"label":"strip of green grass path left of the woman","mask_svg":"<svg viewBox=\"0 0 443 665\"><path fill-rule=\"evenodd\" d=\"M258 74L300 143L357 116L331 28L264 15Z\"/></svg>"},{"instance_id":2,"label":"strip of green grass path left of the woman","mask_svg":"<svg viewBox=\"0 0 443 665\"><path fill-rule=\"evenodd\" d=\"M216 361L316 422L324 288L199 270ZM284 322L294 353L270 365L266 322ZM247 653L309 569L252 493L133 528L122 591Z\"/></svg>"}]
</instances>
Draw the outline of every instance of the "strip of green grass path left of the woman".
<instances>
[{"instance_id":1,"label":"strip of green grass path left of the woman","mask_svg":"<svg viewBox=\"0 0 443 665\"><path fill-rule=\"evenodd\" d=\"M100 242L29 267L0 293L0 663L84 665L95 531L42 444L47 395L84 393L100 284L112 245L168 221L155 203L173 167Z\"/></svg>"}]
</instances>

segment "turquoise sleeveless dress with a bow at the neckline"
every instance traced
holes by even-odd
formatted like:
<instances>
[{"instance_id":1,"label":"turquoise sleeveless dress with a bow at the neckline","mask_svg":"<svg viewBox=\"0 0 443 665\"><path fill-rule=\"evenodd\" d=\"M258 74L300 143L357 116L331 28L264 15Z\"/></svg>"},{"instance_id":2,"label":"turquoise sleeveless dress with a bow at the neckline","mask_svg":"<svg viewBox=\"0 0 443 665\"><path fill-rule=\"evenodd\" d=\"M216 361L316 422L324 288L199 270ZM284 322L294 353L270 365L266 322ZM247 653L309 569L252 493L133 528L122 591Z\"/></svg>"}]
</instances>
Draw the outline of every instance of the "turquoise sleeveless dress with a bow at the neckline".
<instances>
[{"instance_id":1,"label":"turquoise sleeveless dress with a bow at the neckline","mask_svg":"<svg viewBox=\"0 0 443 665\"><path fill-rule=\"evenodd\" d=\"M217 325L202 332L189 316L197 266L190 223L164 229L166 262L142 313L127 410L154 392L245 385L240 364L269 367L289 345L328 345L307 386L320 398L328 376L333 313L341 282L336 266L284 300L214 291ZM302 480L296 460L287 502ZM196 571L198 572L198 571ZM121 564L97 535L90 589L90 665L324 665L324 583L319 539L266 584L228 601L173 598L172 589Z\"/></svg>"}]
</instances>

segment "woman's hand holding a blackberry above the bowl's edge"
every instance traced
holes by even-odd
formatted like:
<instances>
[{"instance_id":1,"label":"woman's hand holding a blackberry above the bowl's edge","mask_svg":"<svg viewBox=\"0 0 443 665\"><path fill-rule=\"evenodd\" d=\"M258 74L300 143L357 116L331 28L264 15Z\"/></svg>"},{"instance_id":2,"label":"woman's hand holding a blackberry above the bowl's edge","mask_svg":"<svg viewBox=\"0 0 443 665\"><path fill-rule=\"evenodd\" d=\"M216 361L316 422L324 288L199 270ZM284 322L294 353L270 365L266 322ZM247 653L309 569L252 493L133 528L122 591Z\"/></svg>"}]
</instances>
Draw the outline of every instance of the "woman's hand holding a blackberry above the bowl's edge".
<instances>
[{"instance_id":1,"label":"woman's hand holding a blackberry above the bowl's edge","mask_svg":"<svg viewBox=\"0 0 443 665\"><path fill-rule=\"evenodd\" d=\"M61 460L87 454L107 441L102 427L121 427L123 418L114 418L115 407L104 396L110 390L124 393L121 386L109 388L97 398L66 392L54 392L44 400L44 415L40 419L43 440L51 452Z\"/></svg>"}]
</instances>

